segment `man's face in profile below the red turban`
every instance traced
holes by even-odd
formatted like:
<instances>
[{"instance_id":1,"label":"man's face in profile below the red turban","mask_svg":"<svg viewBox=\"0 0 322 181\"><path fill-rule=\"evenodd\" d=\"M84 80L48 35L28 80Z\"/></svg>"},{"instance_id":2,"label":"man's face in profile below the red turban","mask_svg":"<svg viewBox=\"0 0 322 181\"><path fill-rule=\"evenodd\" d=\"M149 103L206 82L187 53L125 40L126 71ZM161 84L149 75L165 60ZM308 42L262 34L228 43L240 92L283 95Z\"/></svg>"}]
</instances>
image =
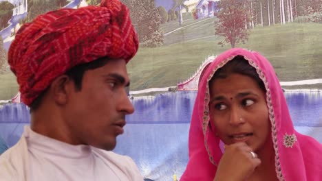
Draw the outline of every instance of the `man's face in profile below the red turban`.
<instances>
[{"instance_id":1,"label":"man's face in profile below the red turban","mask_svg":"<svg viewBox=\"0 0 322 181\"><path fill-rule=\"evenodd\" d=\"M72 143L114 149L125 115L134 112L127 86L125 60L109 60L103 67L85 71L81 90L70 93L64 110Z\"/></svg>"}]
</instances>

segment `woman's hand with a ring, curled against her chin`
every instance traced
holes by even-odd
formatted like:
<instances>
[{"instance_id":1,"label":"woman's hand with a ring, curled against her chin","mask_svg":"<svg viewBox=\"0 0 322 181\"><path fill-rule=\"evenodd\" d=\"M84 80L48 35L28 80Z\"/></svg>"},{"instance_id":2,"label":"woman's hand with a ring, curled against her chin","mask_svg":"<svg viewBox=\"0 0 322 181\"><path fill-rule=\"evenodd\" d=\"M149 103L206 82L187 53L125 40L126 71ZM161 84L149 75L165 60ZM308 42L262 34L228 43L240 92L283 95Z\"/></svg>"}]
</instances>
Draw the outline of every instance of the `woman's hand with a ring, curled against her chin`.
<instances>
[{"instance_id":1,"label":"woman's hand with a ring, curled against her chin","mask_svg":"<svg viewBox=\"0 0 322 181\"><path fill-rule=\"evenodd\" d=\"M261 164L259 158L253 158L253 150L246 143L225 145L225 152L219 162L214 181L244 181Z\"/></svg>"}]
</instances>

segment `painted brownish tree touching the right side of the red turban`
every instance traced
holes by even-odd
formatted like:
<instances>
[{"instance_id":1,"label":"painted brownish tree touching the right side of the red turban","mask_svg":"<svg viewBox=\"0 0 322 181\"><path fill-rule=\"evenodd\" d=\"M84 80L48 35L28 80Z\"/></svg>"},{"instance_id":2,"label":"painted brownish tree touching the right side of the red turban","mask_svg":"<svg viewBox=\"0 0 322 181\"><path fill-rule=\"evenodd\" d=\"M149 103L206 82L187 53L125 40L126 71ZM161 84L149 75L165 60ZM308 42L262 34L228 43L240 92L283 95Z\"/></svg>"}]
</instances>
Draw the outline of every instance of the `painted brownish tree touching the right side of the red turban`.
<instances>
[{"instance_id":1,"label":"painted brownish tree touching the right side of the red turban","mask_svg":"<svg viewBox=\"0 0 322 181\"><path fill-rule=\"evenodd\" d=\"M141 46L159 47L163 45L160 31L162 17L154 0L121 0L130 9L133 25L138 33Z\"/></svg>"}]
</instances>

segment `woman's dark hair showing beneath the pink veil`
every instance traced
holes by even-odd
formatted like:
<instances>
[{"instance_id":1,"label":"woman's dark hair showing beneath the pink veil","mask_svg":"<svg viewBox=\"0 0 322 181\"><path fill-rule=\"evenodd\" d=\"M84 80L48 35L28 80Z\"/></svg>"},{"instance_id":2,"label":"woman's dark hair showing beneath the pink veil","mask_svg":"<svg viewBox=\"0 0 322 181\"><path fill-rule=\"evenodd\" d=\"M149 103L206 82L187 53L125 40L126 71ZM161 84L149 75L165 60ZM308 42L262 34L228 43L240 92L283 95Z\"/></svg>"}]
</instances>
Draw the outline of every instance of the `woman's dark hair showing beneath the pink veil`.
<instances>
[{"instance_id":1,"label":"woman's dark hair showing beneath the pink veil","mask_svg":"<svg viewBox=\"0 0 322 181\"><path fill-rule=\"evenodd\" d=\"M239 73L241 75L252 77L253 80L257 82L259 88L266 93L264 82L259 78L256 69L248 63L244 56L235 56L235 58L227 62L224 67L218 69L215 72L215 75L213 75L209 84L211 84L213 80L217 78L226 78L228 75L233 73Z\"/></svg>"}]
</instances>

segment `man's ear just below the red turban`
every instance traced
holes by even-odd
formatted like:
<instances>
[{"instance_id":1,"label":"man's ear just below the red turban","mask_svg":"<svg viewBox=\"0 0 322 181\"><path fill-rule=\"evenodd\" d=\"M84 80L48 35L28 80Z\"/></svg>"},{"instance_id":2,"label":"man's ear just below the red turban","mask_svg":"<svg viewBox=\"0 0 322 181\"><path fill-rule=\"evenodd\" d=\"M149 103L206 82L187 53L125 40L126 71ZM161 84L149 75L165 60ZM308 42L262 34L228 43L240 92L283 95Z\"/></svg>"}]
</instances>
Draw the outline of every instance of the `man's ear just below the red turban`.
<instances>
[{"instance_id":1,"label":"man's ear just below the red turban","mask_svg":"<svg viewBox=\"0 0 322 181\"><path fill-rule=\"evenodd\" d=\"M51 84L54 101L56 104L67 104L69 94L74 90L74 82L67 75L61 75Z\"/></svg>"}]
</instances>

